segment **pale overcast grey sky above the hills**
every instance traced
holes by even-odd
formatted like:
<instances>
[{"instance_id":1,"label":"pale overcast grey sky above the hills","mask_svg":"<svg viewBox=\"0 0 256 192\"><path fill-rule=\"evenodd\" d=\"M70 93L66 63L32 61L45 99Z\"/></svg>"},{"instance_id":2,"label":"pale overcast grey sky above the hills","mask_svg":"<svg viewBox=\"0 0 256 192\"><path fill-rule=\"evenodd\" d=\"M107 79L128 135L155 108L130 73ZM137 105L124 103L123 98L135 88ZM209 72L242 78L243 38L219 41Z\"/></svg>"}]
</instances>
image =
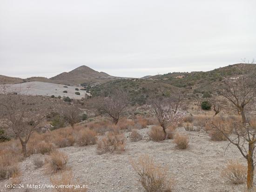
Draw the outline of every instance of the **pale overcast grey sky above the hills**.
<instances>
[{"instance_id":1,"label":"pale overcast grey sky above the hills","mask_svg":"<svg viewBox=\"0 0 256 192\"><path fill-rule=\"evenodd\" d=\"M256 0L0 0L0 74L122 77L256 58Z\"/></svg>"}]
</instances>

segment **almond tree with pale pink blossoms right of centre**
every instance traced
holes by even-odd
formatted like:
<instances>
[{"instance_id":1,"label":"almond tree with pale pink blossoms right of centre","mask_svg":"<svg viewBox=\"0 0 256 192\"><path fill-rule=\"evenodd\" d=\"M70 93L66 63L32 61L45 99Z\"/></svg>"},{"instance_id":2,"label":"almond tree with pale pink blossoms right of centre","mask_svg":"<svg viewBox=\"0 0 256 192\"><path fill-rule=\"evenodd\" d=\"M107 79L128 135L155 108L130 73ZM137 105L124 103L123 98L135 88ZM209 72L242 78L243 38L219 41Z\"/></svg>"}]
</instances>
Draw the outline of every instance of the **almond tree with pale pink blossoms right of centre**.
<instances>
[{"instance_id":1,"label":"almond tree with pale pink blossoms right of centre","mask_svg":"<svg viewBox=\"0 0 256 192\"><path fill-rule=\"evenodd\" d=\"M148 104L153 108L155 116L157 117L166 138L166 129L170 125L177 125L185 115L185 112L181 111L179 105L175 103L173 98L157 94L148 99Z\"/></svg>"}]
</instances>

